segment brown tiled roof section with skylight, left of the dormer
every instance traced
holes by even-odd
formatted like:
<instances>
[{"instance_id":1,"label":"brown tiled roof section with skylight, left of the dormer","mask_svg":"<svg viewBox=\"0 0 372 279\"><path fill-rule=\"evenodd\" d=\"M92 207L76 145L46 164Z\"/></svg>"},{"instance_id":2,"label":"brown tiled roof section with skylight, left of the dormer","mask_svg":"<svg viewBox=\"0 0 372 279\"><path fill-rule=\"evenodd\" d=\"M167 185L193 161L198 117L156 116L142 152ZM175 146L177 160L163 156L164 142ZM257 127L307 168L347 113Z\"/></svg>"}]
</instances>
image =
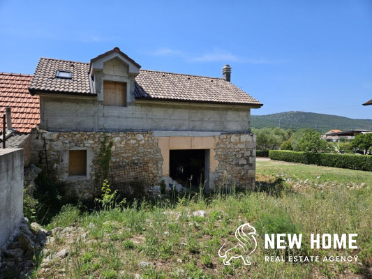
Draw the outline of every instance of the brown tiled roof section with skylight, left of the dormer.
<instances>
[{"instance_id":1,"label":"brown tiled roof section with skylight, left of the dormer","mask_svg":"<svg viewBox=\"0 0 372 279\"><path fill-rule=\"evenodd\" d=\"M72 79L56 77L57 70L73 73ZM52 91L54 93L90 94L89 63L40 58L30 91Z\"/></svg>"}]
</instances>

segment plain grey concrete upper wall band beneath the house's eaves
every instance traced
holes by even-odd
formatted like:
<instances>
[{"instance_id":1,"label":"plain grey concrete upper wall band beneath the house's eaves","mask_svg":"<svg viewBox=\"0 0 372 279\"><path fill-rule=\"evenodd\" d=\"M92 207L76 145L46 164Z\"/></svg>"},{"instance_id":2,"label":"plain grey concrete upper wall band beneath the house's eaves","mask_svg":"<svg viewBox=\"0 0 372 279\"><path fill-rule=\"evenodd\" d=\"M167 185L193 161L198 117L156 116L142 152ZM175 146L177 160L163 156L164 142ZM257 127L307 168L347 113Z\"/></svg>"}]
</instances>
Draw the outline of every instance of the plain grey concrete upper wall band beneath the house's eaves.
<instances>
[{"instance_id":1,"label":"plain grey concrete upper wall band beneath the house's eaves","mask_svg":"<svg viewBox=\"0 0 372 279\"><path fill-rule=\"evenodd\" d=\"M241 133L250 128L250 109L239 106L137 103L107 107L94 98L40 96L43 130L168 130Z\"/></svg>"}]
</instances>

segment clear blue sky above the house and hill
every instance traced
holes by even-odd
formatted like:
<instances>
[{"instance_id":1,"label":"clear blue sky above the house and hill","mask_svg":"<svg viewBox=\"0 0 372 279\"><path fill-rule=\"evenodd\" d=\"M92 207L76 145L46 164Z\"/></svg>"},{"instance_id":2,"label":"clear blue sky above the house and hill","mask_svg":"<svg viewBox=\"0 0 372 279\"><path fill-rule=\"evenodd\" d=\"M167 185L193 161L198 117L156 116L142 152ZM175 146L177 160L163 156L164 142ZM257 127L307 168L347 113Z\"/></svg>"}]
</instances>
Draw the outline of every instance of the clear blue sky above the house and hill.
<instances>
[{"instance_id":1,"label":"clear blue sky above the house and hill","mask_svg":"<svg viewBox=\"0 0 372 279\"><path fill-rule=\"evenodd\" d=\"M265 105L372 119L371 0L4 1L0 71L120 47L143 69L220 77Z\"/></svg>"}]
</instances>

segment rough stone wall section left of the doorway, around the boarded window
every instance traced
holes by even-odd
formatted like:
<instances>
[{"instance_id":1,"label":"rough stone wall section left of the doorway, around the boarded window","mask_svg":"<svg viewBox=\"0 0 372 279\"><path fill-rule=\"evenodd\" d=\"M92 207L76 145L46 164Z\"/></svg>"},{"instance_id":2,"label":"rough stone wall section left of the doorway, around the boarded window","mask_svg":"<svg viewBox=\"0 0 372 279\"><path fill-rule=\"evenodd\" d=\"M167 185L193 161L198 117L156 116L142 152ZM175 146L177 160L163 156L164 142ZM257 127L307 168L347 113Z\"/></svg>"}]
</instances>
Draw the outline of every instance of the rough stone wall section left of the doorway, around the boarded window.
<instances>
[{"instance_id":1,"label":"rough stone wall section left of the doorway, around the boarded window","mask_svg":"<svg viewBox=\"0 0 372 279\"><path fill-rule=\"evenodd\" d=\"M112 140L112 160L109 181L112 185L124 186L128 179L144 181L144 195L161 179L163 158L158 142L151 132L47 132L36 130L32 134L31 163L43 163L45 170L65 181L69 195L81 195L91 199L98 195L101 187L96 181L99 164L97 156L103 137ZM68 151L87 150L87 177L68 176ZM46 155L45 156L45 151ZM113 187L114 188L114 187ZM132 190L133 192L133 190Z\"/></svg>"}]
</instances>

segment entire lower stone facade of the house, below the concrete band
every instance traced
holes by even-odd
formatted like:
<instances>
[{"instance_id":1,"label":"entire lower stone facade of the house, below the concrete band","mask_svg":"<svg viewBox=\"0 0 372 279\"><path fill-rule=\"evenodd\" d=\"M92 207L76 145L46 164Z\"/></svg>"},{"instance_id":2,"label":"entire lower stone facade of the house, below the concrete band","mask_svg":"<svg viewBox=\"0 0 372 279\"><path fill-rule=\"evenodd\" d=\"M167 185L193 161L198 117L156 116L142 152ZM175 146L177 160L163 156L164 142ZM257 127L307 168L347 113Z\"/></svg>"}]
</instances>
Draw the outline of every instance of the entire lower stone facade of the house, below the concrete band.
<instances>
[{"instance_id":1,"label":"entire lower stone facade of the house, below the concrete band","mask_svg":"<svg viewBox=\"0 0 372 279\"><path fill-rule=\"evenodd\" d=\"M153 186L163 179L172 181L169 173L169 151L205 149L207 190L235 185L251 188L255 178L255 136L221 134L209 137L167 137L154 132L48 132L32 134L31 163L47 164L47 171L66 184L69 195L92 199L99 195L102 180L97 179L103 138L112 142L108 179L112 188L133 195L152 195ZM204 140L204 144L202 141ZM186 144L186 141L190 143ZM168 149L164 148L168 142ZM70 176L68 154L71 150L87 151L87 175ZM168 152L168 159L165 152ZM46 152L46 153L45 153ZM162 154L163 153L163 154ZM46 154L46 156L45 156Z\"/></svg>"}]
</instances>

